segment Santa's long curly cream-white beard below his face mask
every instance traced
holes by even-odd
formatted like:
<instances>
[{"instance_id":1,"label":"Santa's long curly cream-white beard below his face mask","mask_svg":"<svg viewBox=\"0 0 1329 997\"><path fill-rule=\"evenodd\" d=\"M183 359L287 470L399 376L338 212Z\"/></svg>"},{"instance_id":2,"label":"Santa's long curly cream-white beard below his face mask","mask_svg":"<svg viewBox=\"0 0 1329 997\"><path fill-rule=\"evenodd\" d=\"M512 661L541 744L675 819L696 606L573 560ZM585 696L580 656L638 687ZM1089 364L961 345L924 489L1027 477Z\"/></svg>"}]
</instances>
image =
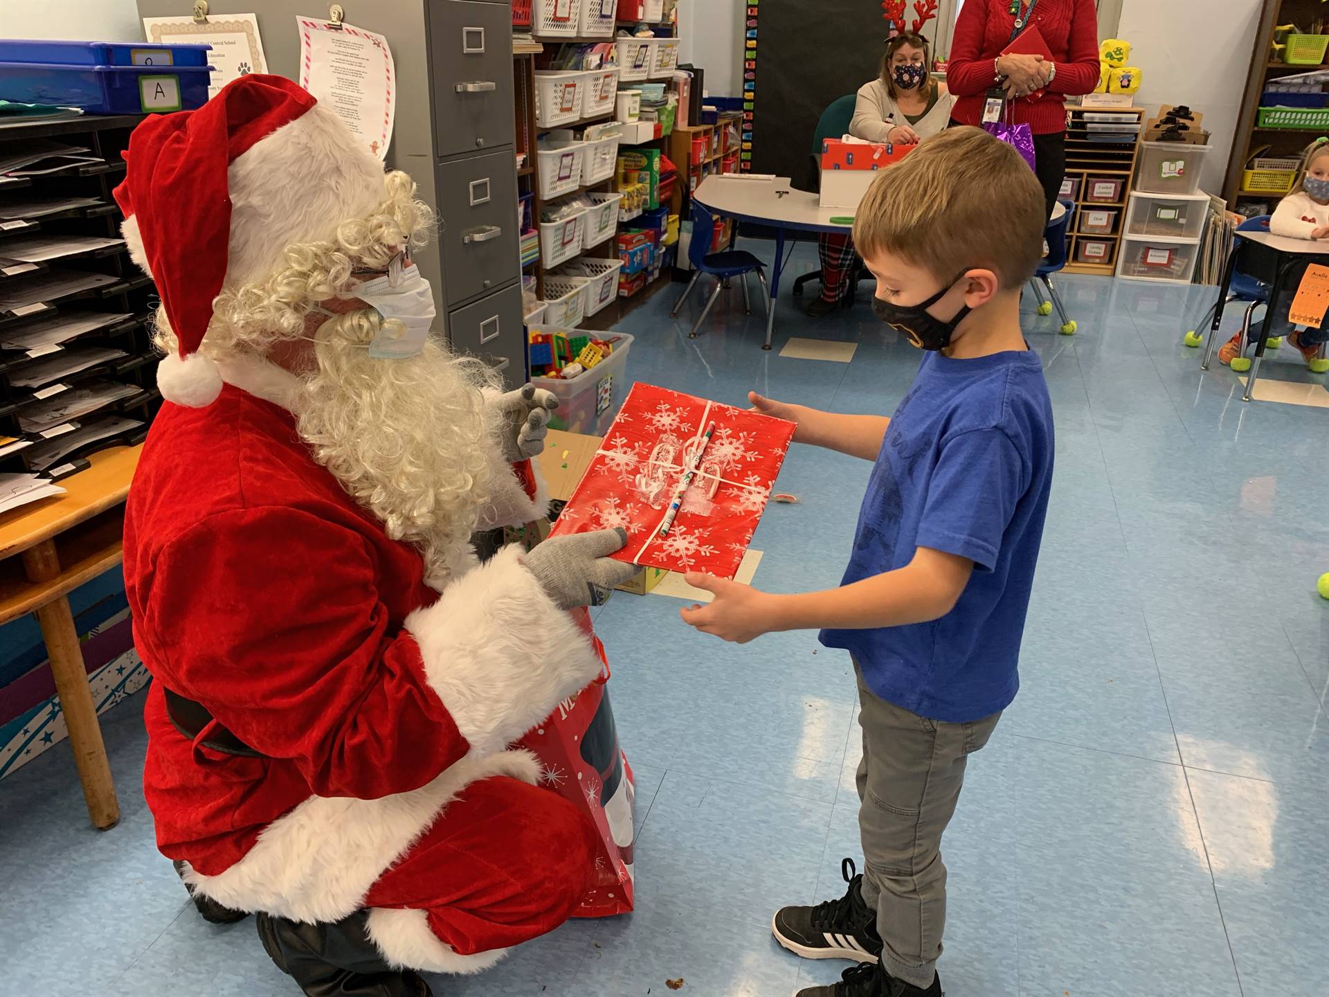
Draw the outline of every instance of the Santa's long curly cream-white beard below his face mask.
<instances>
[{"instance_id":1,"label":"Santa's long curly cream-white beard below his face mask","mask_svg":"<svg viewBox=\"0 0 1329 997\"><path fill-rule=\"evenodd\" d=\"M319 328L299 433L389 537L420 548L425 582L441 589L496 484L481 396L493 378L433 339L412 359L372 358L372 319L348 312Z\"/></svg>"}]
</instances>

